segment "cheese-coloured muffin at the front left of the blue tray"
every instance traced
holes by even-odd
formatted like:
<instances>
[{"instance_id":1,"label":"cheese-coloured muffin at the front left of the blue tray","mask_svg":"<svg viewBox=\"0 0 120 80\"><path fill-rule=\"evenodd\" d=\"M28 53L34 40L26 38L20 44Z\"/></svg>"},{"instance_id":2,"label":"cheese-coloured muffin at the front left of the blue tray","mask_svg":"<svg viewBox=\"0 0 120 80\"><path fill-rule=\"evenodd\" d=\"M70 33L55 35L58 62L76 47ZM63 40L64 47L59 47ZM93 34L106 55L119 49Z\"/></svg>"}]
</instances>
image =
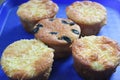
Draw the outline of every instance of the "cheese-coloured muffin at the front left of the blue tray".
<instances>
[{"instance_id":1,"label":"cheese-coloured muffin at the front left of the blue tray","mask_svg":"<svg viewBox=\"0 0 120 80\"><path fill-rule=\"evenodd\" d=\"M12 80L47 80L53 63L53 49L35 39L22 39L3 52L1 66Z\"/></svg>"}]
</instances>

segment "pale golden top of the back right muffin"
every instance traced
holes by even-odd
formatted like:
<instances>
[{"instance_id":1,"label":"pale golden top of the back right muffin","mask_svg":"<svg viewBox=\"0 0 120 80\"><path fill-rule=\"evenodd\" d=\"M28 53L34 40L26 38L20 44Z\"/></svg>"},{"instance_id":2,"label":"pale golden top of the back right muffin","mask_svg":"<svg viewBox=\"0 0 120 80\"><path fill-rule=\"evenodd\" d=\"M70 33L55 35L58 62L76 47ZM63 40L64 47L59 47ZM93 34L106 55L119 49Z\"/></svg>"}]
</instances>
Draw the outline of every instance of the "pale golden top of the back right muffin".
<instances>
[{"instance_id":1,"label":"pale golden top of the back right muffin","mask_svg":"<svg viewBox=\"0 0 120 80\"><path fill-rule=\"evenodd\" d=\"M76 1L66 8L68 18L80 24L96 24L106 19L106 9L97 2Z\"/></svg>"}]
</instances>

